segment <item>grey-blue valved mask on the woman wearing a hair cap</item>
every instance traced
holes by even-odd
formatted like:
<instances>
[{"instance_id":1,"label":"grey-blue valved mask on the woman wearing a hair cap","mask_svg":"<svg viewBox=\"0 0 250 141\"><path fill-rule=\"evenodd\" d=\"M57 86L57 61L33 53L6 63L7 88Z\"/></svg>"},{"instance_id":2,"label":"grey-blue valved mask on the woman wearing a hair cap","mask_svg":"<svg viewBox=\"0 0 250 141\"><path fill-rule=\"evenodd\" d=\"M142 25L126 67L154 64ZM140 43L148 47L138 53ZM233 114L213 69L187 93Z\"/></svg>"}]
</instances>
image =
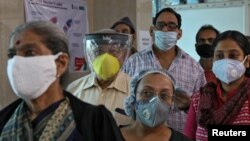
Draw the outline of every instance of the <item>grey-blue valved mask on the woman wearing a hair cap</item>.
<instances>
[{"instance_id":1,"label":"grey-blue valved mask on the woman wearing a hair cap","mask_svg":"<svg viewBox=\"0 0 250 141\"><path fill-rule=\"evenodd\" d=\"M155 127L167 120L170 105L162 102L158 97L154 97L147 102L138 101L136 103L136 116L148 127Z\"/></svg>"}]
</instances>

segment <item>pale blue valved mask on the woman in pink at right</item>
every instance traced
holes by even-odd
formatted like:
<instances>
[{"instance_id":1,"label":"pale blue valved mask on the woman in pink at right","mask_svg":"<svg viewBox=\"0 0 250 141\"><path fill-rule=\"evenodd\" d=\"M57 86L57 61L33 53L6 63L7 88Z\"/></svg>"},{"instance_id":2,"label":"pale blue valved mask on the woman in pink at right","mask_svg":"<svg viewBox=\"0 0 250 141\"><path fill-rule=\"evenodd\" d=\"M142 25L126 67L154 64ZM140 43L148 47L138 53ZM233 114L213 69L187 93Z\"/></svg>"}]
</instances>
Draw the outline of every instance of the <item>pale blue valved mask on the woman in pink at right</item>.
<instances>
[{"instance_id":1,"label":"pale blue valved mask on the woman in pink at right","mask_svg":"<svg viewBox=\"0 0 250 141\"><path fill-rule=\"evenodd\" d=\"M218 60L213 63L212 71L219 80L229 84L245 73L246 68L243 65L245 60L246 58L242 62L233 59Z\"/></svg>"}]
</instances>

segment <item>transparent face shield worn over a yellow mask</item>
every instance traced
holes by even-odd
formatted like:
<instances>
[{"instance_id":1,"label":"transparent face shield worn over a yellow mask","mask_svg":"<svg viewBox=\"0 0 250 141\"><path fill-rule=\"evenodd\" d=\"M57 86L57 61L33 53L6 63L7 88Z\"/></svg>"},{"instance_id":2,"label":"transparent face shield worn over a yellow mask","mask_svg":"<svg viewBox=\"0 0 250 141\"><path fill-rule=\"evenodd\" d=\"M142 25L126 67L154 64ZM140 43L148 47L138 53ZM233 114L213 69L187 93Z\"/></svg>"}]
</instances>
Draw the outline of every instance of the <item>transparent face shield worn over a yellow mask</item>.
<instances>
[{"instance_id":1,"label":"transparent face shield worn over a yellow mask","mask_svg":"<svg viewBox=\"0 0 250 141\"><path fill-rule=\"evenodd\" d=\"M131 49L132 36L123 33L95 33L87 34L84 42L86 60L93 71L93 61L105 53L115 57L122 67Z\"/></svg>"}]
</instances>

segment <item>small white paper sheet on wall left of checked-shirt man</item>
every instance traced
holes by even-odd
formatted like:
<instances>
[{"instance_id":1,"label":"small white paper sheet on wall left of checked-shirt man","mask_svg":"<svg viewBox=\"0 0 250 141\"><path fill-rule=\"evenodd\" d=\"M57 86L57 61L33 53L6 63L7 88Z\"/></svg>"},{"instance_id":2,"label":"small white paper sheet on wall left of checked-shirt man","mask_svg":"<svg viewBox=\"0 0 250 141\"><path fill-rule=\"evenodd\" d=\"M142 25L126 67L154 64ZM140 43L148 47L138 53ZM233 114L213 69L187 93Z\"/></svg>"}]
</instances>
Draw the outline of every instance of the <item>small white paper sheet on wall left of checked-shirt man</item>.
<instances>
[{"instance_id":1,"label":"small white paper sheet on wall left of checked-shirt man","mask_svg":"<svg viewBox=\"0 0 250 141\"><path fill-rule=\"evenodd\" d=\"M138 42L137 49L139 51L144 50L146 48L150 48L152 45L152 41L149 31L146 30L139 31L137 42Z\"/></svg>"}]
</instances>

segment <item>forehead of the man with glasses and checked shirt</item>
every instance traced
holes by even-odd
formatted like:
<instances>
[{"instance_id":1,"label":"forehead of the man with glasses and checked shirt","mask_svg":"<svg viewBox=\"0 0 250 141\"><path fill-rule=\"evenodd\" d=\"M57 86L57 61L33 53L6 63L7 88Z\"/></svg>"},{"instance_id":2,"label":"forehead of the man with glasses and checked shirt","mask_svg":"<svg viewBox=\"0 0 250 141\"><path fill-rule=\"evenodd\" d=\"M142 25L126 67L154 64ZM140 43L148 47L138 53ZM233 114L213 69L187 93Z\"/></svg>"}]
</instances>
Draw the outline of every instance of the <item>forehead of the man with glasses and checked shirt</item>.
<instances>
[{"instance_id":1,"label":"forehead of the man with glasses and checked shirt","mask_svg":"<svg viewBox=\"0 0 250 141\"><path fill-rule=\"evenodd\" d=\"M178 20L176 18L176 16L171 13L171 12L163 12L161 13L158 18L156 19L156 22L174 22L176 24L178 24Z\"/></svg>"}]
</instances>

